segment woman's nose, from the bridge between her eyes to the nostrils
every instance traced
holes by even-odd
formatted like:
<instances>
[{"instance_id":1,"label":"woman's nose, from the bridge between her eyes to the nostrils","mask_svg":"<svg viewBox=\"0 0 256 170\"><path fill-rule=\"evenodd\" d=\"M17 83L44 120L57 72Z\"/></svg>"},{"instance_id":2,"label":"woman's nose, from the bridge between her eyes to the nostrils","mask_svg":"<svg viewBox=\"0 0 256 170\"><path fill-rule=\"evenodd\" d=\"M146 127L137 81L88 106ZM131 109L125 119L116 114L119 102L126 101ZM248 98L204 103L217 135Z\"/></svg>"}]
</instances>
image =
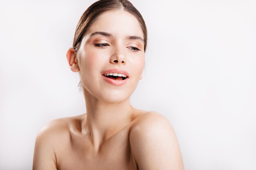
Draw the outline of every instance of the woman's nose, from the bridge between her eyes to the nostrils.
<instances>
[{"instance_id":1,"label":"woman's nose, from the bridge between her eyes to the nostrils","mask_svg":"<svg viewBox=\"0 0 256 170\"><path fill-rule=\"evenodd\" d=\"M126 64L125 48L121 46L113 48L110 62L113 64Z\"/></svg>"}]
</instances>

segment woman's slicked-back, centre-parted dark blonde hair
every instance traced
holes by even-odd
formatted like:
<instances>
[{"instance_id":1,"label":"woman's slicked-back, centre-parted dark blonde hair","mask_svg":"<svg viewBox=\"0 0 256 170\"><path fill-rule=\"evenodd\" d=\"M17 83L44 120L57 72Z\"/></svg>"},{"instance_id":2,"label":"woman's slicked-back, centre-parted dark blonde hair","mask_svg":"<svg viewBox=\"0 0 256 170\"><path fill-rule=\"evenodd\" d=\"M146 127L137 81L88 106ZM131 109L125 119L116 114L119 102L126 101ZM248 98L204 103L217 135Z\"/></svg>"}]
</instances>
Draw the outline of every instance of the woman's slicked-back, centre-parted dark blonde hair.
<instances>
[{"instance_id":1,"label":"woman's slicked-back, centre-parted dark blonde hair","mask_svg":"<svg viewBox=\"0 0 256 170\"><path fill-rule=\"evenodd\" d=\"M147 28L139 11L132 5L132 3L128 0L99 0L92 4L81 16L75 31L73 48L75 49L75 55L79 50L81 45L81 41L84 33L88 30L88 28L97 20L99 15L106 11L110 10L124 10L132 15L134 15L139 24L141 26L143 36L144 36L144 51L146 51L147 46Z\"/></svg>"}]
</instances>

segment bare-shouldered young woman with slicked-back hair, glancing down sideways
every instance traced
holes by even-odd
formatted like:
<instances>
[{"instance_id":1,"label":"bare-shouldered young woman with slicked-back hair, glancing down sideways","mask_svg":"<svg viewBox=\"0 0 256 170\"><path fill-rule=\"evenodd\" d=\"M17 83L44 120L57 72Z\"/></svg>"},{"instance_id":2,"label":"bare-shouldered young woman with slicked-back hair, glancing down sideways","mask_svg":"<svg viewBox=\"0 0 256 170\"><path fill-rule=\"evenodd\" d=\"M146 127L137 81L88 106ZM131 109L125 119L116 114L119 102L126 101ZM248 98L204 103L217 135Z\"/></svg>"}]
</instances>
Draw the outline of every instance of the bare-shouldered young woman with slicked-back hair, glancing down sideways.
<instances>
[{"instance_id":1,"label":"bare-shouldered young woman with slicked-back hair, glancing down sideways","mask_svg":"<svg viewBox=\"0 0 256 170\"><path fill-rule=\"evenodd\" d=\"M146 45L146 25L128 0L100 0L83 13L67 60L80 74L87 113L45 125L33 170L184 169L169 121L130 105Z\"/></svg>"}]
</instances>

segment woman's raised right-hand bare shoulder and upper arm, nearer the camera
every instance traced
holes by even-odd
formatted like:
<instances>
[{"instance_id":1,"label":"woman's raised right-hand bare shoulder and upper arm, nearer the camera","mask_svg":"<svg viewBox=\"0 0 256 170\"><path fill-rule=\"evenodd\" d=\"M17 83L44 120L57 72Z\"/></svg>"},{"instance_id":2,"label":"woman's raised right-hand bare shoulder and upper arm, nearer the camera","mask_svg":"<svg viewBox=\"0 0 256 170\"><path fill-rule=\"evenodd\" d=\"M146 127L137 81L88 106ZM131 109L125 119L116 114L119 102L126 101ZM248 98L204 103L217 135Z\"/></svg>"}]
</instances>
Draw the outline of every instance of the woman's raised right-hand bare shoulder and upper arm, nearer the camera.
<instances>
[{"instance_id":1,"label":"woman's raised right-hand bare shoulder and upper arm, nearer the camera","mask_svg":"<svg viewBox=\"0 0 256 170\"><path fill-rule=\"evenodd\" d=\"M158 113L147 113L136 122L130 144L139 170L184 170L175 132Z\"/></svg>"}]
</instances>

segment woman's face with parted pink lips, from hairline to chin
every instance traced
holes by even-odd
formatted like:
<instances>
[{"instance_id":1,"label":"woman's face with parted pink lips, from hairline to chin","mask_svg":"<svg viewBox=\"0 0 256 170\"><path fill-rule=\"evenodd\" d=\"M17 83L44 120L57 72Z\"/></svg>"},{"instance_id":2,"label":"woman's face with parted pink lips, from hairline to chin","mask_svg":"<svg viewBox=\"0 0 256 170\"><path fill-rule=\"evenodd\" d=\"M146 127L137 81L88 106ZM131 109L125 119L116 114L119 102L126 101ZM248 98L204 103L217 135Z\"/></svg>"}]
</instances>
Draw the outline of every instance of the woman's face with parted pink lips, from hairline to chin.
<instances>
[{"instance_id":1,"label":"woman's face with parted pink lips, from hairline to chin","mask_svg":"<svg viewBox=\"0 0 256 170\"><path fill-rule=\"evenodd\" d=\"M138 20L107 11L86 31L77 54L84 90L106 102L122 102L135 91L145 64Z\"/></svg>"}]
</instances>

